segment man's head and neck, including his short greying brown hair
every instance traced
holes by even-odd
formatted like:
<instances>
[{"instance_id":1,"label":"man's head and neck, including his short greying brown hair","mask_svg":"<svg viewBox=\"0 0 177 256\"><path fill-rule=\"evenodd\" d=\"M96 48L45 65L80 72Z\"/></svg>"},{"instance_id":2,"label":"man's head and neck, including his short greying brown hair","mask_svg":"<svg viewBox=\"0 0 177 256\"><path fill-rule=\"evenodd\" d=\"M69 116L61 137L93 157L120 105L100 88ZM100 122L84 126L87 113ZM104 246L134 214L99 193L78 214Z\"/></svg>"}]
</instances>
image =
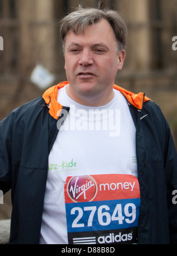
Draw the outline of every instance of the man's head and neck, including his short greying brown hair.
<instances>
[{"instance_id":1,"label":"man's head and neck, including his short greying brown hair","mask_svg":"<svg viewBox=\"0 0 177 256\"><path fill-rule=\"evenodd\" d=\"M112 101L124 63L127 29L116 11L79 8L61 22L67 94L83 105Z\"/></svg>"}]
</instances>

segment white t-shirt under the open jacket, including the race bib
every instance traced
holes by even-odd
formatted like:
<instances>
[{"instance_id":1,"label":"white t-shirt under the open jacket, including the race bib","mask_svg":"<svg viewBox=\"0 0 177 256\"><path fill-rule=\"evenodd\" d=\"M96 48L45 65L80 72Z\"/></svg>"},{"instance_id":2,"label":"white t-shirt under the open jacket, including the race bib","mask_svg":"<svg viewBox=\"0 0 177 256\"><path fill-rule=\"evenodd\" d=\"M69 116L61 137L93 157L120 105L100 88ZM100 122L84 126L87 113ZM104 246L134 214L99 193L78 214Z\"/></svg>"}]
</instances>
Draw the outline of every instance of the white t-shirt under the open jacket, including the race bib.
<instances>
[{"instance_id":1,"label":"white t-shirt under the open jacket, including the race bib","mask_svg":"<svg viewBox=\"0 0 177 256\"><path fill-rule=\"evenodd\" d=\"M104 244L105 239L109 242L131 240L133 231L129 231L129 234L127 232L126 235L122 234L124 234L124 228L129 228L127 223L131 222L131 218L135 221L134 213L137 214L138 212L138 209L134 209L136 203L132 204L132 201L127 201L124 209L122 209L123 205L120 204L122 201L117 201L122 199L122 194L120 196L111 194L111 192L115 193L116 191L134 193L135 182L137 188L139 186L136 163L136 128L126 99L122 93L114 90L114 99L107 105L100 107L84 106L70 99L64 87L58 90L57 100L63 106L70 106L70 112L58 132L48 158L48 177L40 243L68 244L68 241L69 243L70 241L76 243L77 238L75 236L69 238L69 236L79 234L80 237L85 234L88 238L90 234L94 234L92 232L94 229L97 232L100 230L100 234L103 234L105 226L107 230L105 232L107 233L105 233L104 238L100 235L98 237L91 236L96 237L95 239L99 243ZM70 183L73 177L75 177L74 185ZM106 183L106 180L109 180L108 178L110 178L109 184ZM89 195L92 195L91 189L94 189L94 187L94 196L89 197ZM103 213L103 210L110 209L111 206L104 208L97 205L98 202L104 200L104 198L100 199L101 195L104 194L103 188L108 205L109 202L112 202L112 197L116 199L113 213ZM89 191L90 194L88 194ZM130 195L130 193L128 194ZM123 196L123 199L130 200L129 195ZM137 195L139 195L139 191L137 191ZM137 195L135 195L136 198L139 197ZM83 198L81 199L81 197ZM79 199L81 199L81 202L78 202ZM88 203L93 204L94 202L96 206L90 208ZM80 207L74 207L75 205L79 206L78 203L81 203ZM84 206L84 203L86 203L86 206ZM139 205L137 208L139 208ZM83 212L84 210L90 215L84 217L86 215ZM120 220L121 211L124 212L124 217L122 217L124 221ZM98 217L97 212L103 218ZM118 219L115 218L117 215L116 218ZM112 221L104 219L108 218L107 216L112 216ZM87 218L86 224L83 224L83 218ZM112 223L119 222L119 220L122 225L120 226L122 228L121 232L119 230L114 234L113 230L115 228ZM94 224L96 222L100 226L95 226L97 225ZM135 224L133 225L135 226ZM112 239L109 238L110 236L112 236ZM80 241L83 242L84 239L81 238Z\"/></svg>"}]
</instances>

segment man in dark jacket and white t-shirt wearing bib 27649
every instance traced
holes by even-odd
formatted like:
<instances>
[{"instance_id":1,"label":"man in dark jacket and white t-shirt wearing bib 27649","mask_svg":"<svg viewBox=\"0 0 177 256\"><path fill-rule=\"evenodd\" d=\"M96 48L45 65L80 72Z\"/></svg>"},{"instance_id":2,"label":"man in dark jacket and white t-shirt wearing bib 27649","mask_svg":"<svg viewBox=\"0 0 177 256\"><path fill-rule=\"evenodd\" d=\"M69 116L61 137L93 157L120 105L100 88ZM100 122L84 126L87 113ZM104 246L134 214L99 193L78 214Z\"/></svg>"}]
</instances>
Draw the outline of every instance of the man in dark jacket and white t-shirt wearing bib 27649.
<instances>
[{"instance_id":1,"label":"man in dark jacket and white t-shirt wearing bib 27649","mask_svg":"<svg viewBox=\"0 0 177 256\"><path fill-rule=\"evenodd\" d=\"M0 124L10 244L176 243L169 125L143 93L114 85L126 24L116 11L78 8L61 35L68 82Z\"/></svg>"}]
</instances>

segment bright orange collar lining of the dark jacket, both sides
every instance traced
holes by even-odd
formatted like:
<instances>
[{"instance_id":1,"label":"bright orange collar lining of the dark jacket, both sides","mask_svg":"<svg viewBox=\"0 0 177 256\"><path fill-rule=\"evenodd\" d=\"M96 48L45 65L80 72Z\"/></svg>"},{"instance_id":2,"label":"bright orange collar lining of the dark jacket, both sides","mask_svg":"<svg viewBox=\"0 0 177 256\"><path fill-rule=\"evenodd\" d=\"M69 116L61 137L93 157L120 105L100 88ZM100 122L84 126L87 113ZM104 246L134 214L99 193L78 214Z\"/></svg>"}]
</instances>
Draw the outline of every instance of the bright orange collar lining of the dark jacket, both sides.
<instances>
[{"instance_id":1,"label":"bright orange collar lining of the dark jacket, both sides","mask_svg":"<svg viewBox=\"0 0 177 256\"><path fill-rule=\"evenodd\" d=\"M63 108L63 106L57 102L58 90L63 88L65 85L68 85L68 81L59 83L58 85L49 88L42 95L42 98L48 104L49 114L55 119L58 119L61 109ZM127 101L137 109L141 110L143 108L143 99L144 102L150 101L148 97L144 97L144 93L142 92L135 94L117 85L114 85L114 89L119 90L126 97Z\"/></svg>"}]
</instances>

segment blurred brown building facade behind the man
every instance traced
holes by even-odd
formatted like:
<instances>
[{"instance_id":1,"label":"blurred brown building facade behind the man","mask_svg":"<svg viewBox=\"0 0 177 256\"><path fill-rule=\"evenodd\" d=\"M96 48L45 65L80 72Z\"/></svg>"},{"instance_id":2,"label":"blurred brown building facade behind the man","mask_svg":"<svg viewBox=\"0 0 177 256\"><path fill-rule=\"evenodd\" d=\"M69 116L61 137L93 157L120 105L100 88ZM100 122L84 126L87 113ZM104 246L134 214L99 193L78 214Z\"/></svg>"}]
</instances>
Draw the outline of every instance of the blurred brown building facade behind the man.
<instances>
[{"instance_id":1,"label":"blurred brown building facade behind the man","mask_svg":"<svg viewBox=\"0 0 177 256\"><path fill-rule=\"evenodd\" d=\"M97 7L98 1L0 0L0 120L42 94L30 83L36 64L55 74L54 84L66 79L58 21L78 4ZM176 138L177 51L172 50L172 37L177 35L177 0L104 0L101 5L119 11L128 27L126 61L117 85L158 101Z\"/></svg>"}]
</instances>

